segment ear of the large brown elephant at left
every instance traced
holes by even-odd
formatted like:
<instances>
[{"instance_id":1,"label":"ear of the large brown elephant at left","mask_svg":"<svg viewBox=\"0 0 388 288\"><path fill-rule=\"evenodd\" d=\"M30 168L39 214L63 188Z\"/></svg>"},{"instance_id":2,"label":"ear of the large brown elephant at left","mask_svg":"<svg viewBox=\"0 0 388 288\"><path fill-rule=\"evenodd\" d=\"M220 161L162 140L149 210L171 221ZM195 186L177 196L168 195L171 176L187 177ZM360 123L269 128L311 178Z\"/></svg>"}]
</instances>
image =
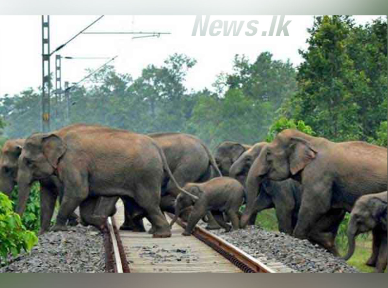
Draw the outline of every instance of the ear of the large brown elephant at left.
<instances>
[{"instance_id":1,"label":"ear of the large brown elephant at left","mask_svg":"<svg viewBox=\"0 0 388 288\"><path fill-rule=\"evenodd\" d=\"M66 144L63 139L55 134L45 136L42 139L42 151L54 168L58 167L59 159L66 152Z\"/></svg>"}]
</instances>

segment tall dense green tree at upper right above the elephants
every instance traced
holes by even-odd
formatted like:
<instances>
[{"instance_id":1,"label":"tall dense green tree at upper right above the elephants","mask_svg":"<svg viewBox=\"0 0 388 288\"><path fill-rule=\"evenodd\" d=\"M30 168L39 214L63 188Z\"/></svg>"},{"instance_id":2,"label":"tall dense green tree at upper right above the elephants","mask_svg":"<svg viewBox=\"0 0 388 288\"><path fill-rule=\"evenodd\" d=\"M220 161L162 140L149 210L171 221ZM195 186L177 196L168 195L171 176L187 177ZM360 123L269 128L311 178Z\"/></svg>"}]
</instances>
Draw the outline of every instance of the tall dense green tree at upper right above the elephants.
<instances>
[{"instance_id":1,"label":"tall dense green tree at upper right above the elephants","mask_svg":"<svg viewBox=\"0 0 388 288\"><path fill-rule=\"evenodd\" d=\"M331 140L375 138L387 120L387 20L355 26L349 16L318 16L308 32L297 93L283 114Z\"/></svg>"}]
</instances>

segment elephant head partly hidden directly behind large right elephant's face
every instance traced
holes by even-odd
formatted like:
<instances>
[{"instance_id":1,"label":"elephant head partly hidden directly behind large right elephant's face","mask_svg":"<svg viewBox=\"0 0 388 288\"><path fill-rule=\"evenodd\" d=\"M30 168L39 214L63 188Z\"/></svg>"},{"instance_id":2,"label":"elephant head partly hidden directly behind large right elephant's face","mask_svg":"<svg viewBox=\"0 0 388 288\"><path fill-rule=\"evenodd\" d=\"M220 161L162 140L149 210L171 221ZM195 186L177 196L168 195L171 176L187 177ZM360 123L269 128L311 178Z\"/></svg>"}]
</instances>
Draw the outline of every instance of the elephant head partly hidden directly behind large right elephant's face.
<instances>
[{"instance_id":1,"label":"elephant head partly hidden directly behind large right elephant's face","mask_svg":"<svg viewBox=\"0 0 388 288\"><path fill-rule=\"evenodd\" d=\"M259 142L253 145L250 149L242 153L242 155L233 163L229 169L229 176L237 179L242 185L245 185L246 176L255 159L259 156L266 142Z\"/></svg>"}]
</instances>

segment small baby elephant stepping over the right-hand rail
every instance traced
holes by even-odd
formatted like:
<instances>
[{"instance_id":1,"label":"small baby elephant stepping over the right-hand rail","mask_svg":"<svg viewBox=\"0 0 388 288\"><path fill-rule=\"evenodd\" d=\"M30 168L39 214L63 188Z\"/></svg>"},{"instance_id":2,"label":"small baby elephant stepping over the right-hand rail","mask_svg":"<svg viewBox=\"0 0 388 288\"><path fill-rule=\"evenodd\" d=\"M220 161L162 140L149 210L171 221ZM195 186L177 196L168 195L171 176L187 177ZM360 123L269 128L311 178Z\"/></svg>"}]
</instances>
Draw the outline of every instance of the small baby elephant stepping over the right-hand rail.
<instances>
[{"instance_id":1,"label":"small baby elephant stepping over the right-hand rail","mask_svg":"<svg viewBox=\"0 0 388 288\"><path fill-rule=\"evenodd\" d=\"M239 228L238 212L244 197L244 187L236 179L217 177L204 183L187 183L184 189L194 194L198 199L196 200L182 193L177 197L175 217L170 226L173 226L183 211L193 206L186 229L182 235L191 235L195 225L209 211L213 214L217 223L225 228L226 232L230 231L231 228L233 230ZM229 217L232 227L225 222L223 213Z\"/></svg>"}]
</instances>

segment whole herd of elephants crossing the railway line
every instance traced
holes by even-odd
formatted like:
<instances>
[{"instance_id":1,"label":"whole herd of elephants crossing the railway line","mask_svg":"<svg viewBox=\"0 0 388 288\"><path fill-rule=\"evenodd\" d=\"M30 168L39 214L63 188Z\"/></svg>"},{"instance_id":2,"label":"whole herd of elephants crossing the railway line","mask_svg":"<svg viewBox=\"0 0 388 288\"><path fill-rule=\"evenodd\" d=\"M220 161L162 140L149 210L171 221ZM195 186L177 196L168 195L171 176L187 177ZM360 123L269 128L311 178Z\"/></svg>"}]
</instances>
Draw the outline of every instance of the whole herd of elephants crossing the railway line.
<instances>
[{"instance_id":1,"label":"whole herd of elephants crossing the railway line","mask_svg":"<svg viewBox=\"0 0 388 288\"><path fill-rule=\"evenodd\" d=\"M50 133L5 142L0 191L18 186L23 214L33 182L40 182L41 231L78 224L102 229L125 205L125 230L170 237L178 217L190 235L200 219L226 231L254 225L257 213L275 208L279 230L339 255L335 238L345 212L350 258L359 233L372 231L376 272L387 267L387 149L362 141L335 143L287 129L271 143L226 141L214 156L197 137L141 135L101 125L72 124ZM245 205L243 212L241 206ZM169 224L163 212L175 214ZM228 224L231 223L231 225Z\"/></svg>"}]
</instances>

